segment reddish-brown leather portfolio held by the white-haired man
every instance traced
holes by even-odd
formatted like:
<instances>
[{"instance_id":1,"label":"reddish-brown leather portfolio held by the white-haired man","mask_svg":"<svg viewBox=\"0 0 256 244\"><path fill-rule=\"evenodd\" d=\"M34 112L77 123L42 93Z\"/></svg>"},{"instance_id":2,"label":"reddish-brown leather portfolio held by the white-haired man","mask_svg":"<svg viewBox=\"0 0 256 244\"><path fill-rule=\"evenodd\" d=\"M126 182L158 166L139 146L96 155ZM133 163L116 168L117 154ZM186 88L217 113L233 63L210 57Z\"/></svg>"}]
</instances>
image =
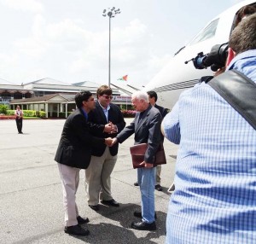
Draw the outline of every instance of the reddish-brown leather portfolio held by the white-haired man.
<instances>
[{"instance_id":1,"label":"reddish-brown leather portfolio held by the white-haired man","mask_svg":"<svg viewBox=\"0 0 256 244\"><path fill-rule=\"evenodd\" d=\"M141 143L134 145L130 148L131 160L134 169L142 168L140 164L144 161L144 155L148 148L148 143ZM166 154L163 143L160 143L160 146L154 155L154 166L166 164Z\"/></svg>"}]
</instances>

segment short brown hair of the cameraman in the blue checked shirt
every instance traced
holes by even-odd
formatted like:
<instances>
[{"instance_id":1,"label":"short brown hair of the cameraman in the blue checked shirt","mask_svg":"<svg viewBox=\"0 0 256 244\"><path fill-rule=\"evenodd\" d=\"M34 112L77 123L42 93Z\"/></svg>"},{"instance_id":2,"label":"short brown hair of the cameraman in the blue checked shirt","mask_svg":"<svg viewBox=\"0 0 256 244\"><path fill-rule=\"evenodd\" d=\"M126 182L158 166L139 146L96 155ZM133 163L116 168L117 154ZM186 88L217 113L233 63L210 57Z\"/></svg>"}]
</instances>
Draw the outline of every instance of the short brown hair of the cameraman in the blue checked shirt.
<instances>
[{"instance_id":1,"label":"short brown hair of the cameraman in the blue checked shirt","mask_svg":"<svg viewBox=\"0 0 256 244\"><path fill-rule=\"evenodd\" d=\"M256 13L242 20L230 36L230 48L236 55L256 49Z\"/></svg>"}]
</instances>

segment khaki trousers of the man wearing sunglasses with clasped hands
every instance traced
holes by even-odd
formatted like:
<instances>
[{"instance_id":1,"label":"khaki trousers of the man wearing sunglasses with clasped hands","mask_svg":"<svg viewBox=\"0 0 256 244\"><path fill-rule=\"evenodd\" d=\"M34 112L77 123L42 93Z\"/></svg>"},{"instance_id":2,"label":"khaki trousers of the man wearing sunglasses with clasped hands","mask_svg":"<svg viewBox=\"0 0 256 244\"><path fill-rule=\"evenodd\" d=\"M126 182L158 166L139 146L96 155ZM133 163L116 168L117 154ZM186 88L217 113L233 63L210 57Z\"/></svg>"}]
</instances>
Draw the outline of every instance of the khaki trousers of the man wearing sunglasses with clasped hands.
<instances>
[{"instance_id":1,"label":"khaki trousers of the man wearing sunglasses with clasped hands","mask_svg":"<svg viewBox=\"0 0 256 244\"><path fill-rule=\"evenodd\" d=\"M85 191L89 205L97 205L99 200L112 200L110 175L117 160L106 147L101 157L91 156L90 165L85 170Z\"/></svg>"}]
</instances>

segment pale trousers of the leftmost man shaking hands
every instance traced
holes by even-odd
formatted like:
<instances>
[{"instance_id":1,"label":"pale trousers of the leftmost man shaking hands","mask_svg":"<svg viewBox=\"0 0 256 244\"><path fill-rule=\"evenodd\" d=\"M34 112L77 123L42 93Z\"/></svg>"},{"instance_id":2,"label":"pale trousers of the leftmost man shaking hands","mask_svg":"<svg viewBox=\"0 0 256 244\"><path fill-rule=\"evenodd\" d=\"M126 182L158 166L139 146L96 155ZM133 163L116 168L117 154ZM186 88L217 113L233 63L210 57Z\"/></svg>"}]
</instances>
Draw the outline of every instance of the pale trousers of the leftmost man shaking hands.
<instances>
[{"instance_id":1,"label":"pale trousers of the leftmost man shaking hands","mask_svg":"<svg viewBox=\"0 0 256 244\"><path fill-rule=\"evenodd\" d=\"M61 174L61 183L63 190L63 206L65 210L65 226L77 225L79 216L78 206L76 204L76 192L79 187L78 168L58 164Z\"/></svg>"}]
</instances>

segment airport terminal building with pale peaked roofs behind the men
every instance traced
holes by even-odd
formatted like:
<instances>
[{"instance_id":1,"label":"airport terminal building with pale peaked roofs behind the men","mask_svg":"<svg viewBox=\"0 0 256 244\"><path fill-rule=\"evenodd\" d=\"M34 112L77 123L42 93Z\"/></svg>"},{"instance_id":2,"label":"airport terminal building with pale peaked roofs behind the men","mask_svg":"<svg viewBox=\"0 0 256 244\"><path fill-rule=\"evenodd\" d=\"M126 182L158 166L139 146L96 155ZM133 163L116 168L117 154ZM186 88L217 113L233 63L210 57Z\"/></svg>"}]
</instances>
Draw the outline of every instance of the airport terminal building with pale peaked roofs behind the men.
<instances>
[{"instance_id":1,"label":"airport terminal building with pale peaked roofs behind the men","mask_svg":"<svg viewBox=\"0 0 256 244\"><path fill-rule=\"evenodd\" d=\"M96 96L100 84L84 81L67 84L53 78L42 78L26 84L13 84L0 78L0 104L15 109L20 105L22 110L44 111L46 118L59 117L60 113L72 112L75 109L74 96L81 90L90 90ZM111 84L113 103L123 109L131 108L131 94L137 90L128 85Z\"/></svg>"}]
</instances>

